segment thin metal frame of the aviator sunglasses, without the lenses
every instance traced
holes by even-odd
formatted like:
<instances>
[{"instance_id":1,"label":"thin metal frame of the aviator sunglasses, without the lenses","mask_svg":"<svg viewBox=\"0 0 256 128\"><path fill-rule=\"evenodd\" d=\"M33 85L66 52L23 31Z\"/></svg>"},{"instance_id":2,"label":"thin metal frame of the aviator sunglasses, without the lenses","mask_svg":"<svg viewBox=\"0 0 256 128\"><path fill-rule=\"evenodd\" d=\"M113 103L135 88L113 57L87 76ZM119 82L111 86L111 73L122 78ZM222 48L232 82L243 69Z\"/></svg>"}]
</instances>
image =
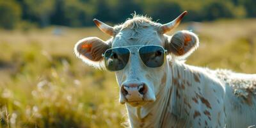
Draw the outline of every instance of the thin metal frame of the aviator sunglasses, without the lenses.
<instances>
[{"instance_id":1,"label":"thin metal frame of the aviator sunglasses, without the lenses","mask_svg":"<svg viewBox=\"0 0 256 128\"><path fill-rule=\"evenodd\" d=\"M104 52L104 54L102 54L101 56L103 57L103 58L105 58L105 54L106 54L106 52L107 51L109 51L109 50L111 50L111 49L118 49L118 48L125 48L125 49L128 49L129 50L129 60L127 61L127 63L129 63L129 61L130 61L130 58L131 58L131 48L132 47L138 47L137 49L137 52L140 54L140 49L141 49L141 47L148 47L148 46L157 46L157 47L161 47L162 49L163 49L163 51L164 51L164 61L166 60L166 54L168 53L168 51L166 50L166 49L164 49L164 47L163 46L161 46L161 45L129 45L129 46L123 46L123 47L112 47L112 48L110 48L110 49L107 49L105 52ZM142 63L143 63L143 65L145 65L146 67L148 67L145 63L144 63L144 61L141 59L141 57L140 57L140 60L142 61ZM105 62L105 59L104 59L104 63L106 63ZM161 65L161 66L163 66L163 64ZM160 67L161 67L160 66ZM126 67L126 65L125 65L125 67ZM124 67L124 68L125 68ZM122 68L122 69L120 69L120 70L123 70L124 68ZM148 67L148 68L157 68L157 67ZM108 68L107 68L108 69ZM116 71L119 71L119 70L109 70L109 71L111 71L111 72L116 72Z\"/></svg>"}]
</instances>

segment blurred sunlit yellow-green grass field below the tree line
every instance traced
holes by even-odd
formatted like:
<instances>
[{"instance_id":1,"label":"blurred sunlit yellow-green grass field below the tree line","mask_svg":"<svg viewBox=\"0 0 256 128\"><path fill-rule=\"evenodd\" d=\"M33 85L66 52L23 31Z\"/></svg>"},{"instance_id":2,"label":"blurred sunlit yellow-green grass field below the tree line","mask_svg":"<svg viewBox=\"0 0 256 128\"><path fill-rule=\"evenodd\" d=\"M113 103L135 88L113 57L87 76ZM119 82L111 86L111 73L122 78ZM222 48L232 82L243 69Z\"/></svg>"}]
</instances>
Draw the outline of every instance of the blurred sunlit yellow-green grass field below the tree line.
<instances>
[{"instance_id":1,"label":"blurred sunlit yellow-green grass field below the tree line","mask_svg":"<svg viewBox=\"0 0 256 128\"><path fill-rule=\"evenodd\" d=\"M186 63L256 73L255 22L186 23L175 31L193 24L200 38ZM97 28L0 31L0 128L122 127L115 74L74 56L74 44L87 36L109 38Z\"/></svg>"}]
</instances>

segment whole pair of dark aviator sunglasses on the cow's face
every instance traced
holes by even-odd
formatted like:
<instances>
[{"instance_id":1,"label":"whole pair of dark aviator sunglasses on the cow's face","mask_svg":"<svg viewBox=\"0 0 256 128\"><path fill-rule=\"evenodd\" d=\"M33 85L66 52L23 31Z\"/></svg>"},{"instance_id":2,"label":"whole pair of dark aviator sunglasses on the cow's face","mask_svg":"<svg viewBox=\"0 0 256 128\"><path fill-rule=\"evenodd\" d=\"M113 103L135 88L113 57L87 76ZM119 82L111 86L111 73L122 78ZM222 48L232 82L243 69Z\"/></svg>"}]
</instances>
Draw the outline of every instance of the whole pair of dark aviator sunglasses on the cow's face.
<instances>
[{"instance_id":1,"label":"whole pair of dark aviator sunglasses on the cow's face","mask_svg":"<svg viewBox=\"0 0 256 128\"><path fill-rule=\"evenodd\" d=\"M150 68L161 67L164 63L166 50L160 45L133 45L127 47L115 47L102 54L106 68L110 71L118 71L127 65L132 47L138 47L141 61Z\"/></svg>"}]
</instances>

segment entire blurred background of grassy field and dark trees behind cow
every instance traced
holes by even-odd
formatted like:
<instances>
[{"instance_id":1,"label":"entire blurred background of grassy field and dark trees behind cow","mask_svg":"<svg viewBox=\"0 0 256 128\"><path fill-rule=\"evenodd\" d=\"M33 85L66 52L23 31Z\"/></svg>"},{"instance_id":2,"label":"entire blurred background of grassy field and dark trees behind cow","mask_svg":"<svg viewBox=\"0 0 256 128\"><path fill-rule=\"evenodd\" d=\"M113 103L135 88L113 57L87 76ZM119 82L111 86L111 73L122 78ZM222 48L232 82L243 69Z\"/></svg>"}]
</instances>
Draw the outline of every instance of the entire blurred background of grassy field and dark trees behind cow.
<instances>
[{"instance_id":1,"label":"entire blurred background of grassy field and dark trees behind cow","mask_svg":"<svg viewBox=\"0 0 256 128\"><path fill-rule=\"evenodd\" d=\"M109 38L93 18L113 25L136 11L166 23L184 10L175 31L200 38L186 63L256 73L254 0L0 0L0 128L127 125L115 74L84 65L73 47Z\"/></svg>"}]
</instances>

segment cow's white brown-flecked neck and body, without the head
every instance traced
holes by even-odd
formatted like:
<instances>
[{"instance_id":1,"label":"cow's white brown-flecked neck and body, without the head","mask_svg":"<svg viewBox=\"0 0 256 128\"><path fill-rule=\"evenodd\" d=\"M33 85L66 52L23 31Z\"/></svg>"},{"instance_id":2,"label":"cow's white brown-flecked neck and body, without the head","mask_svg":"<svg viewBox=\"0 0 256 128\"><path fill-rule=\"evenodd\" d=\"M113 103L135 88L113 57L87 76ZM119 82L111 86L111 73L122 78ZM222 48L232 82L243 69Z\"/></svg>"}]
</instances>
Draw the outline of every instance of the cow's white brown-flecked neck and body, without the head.
<instances>
[{"instance_id":1,"label":"cow's white brown-flecked neck and body, without the head","mask_svg":"<svg viewBox=\"0 0 256 128\"><path fill-rule=\"evenodd\" d=\"M127 105L132 127L239 128L256 124L256 75L176 61L170 62L166 79L162 79L166 85L157 102L140 110Z\"/></svg>"}]
</instances>

